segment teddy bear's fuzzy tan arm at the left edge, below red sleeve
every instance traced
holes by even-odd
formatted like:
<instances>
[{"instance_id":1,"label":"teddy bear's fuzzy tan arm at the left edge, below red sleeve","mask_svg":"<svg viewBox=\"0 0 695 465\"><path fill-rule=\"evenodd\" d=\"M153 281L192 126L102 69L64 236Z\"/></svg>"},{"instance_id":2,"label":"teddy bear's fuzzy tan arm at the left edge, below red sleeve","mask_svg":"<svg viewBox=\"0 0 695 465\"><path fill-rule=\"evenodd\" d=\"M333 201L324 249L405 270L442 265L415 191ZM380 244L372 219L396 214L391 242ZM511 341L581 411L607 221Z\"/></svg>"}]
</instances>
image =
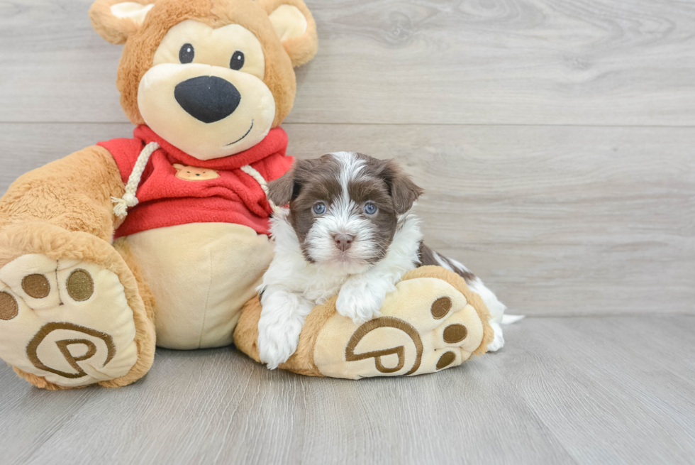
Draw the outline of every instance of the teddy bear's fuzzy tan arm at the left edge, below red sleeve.
<instances>
[{"instance_id":1,"label":"teddy bear's fuzzy tan arm at the left edge, below red sleeve","mask_svg":"<svg viewBox=\"0 0 695 465\"><path fill-rule=\"evenodd\" d=\"M111 242L118 219L111 197L125 192L116 161L99 146L30 171L0 199L0 229L40 221Z\"/></svg>"}]
</instances>

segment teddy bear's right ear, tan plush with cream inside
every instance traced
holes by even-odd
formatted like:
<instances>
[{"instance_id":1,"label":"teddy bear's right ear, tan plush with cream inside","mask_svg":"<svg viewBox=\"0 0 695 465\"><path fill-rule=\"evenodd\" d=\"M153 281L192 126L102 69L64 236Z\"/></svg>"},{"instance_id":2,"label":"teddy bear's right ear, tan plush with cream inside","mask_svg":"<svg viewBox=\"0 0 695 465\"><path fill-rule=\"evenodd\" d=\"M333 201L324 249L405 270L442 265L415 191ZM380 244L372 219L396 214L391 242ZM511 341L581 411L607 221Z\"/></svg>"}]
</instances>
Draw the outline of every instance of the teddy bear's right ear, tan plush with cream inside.
<instances>
[{"instance_id":1,"label":"teddy bear's right ear, tan plush with cream inside","mask_svg":"<svg viewBox=\"0 0 695 465\"><path fill-rule=\"evenodd\" d=\"M316 22L301 0L260 0L270 22L292 60L294 67L304 65L316 55Z\"/></svg>"}]
</instances>

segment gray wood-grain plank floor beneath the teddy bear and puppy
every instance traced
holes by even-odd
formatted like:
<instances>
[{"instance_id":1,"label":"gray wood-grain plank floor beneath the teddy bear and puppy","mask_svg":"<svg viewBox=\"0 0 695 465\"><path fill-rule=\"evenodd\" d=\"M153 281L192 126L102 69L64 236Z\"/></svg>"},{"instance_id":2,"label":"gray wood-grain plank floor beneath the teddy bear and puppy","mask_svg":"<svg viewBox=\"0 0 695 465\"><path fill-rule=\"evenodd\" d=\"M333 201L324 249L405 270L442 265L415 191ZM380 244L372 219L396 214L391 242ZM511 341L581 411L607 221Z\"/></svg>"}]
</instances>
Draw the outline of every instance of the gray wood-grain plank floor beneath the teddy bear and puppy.
<instances>
[{"instance_id":1,"label":"gray wood-grain plank floor beneath the teddy bear and puppy","mask_svg":"<svg viewBox=\"0 0 695 465\"><path fill-rule=\"evenodd\" d=\"M4 464L691 464L695 317L537 317L436 375L267 371L160 350L115 390L46 392L0 368Z\"/></svg>"}]
</instances>

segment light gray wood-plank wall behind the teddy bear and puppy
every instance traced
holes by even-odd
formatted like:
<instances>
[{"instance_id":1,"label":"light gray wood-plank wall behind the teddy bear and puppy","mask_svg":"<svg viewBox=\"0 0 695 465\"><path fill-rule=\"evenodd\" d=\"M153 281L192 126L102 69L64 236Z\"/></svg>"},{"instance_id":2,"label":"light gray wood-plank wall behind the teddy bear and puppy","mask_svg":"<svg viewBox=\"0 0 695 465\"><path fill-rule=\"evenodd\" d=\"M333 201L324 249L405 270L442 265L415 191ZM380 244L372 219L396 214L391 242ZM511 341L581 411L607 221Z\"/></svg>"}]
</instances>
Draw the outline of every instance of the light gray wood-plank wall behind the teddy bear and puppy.
<instances>
[{"instance_id":1,"label":"light gray wood-plank wall behind the teddy bear and puppy","mask_svg":"<svg viewBox=\"0 0 695 465\"><path fill-rule=\"evenodd\" d=\"M0 1L0 192L132 126L91 0ZM431 246L515 312L694 313L695 6L310 1L300 157L401 160Z\"/></svg>"}]
</instances>

